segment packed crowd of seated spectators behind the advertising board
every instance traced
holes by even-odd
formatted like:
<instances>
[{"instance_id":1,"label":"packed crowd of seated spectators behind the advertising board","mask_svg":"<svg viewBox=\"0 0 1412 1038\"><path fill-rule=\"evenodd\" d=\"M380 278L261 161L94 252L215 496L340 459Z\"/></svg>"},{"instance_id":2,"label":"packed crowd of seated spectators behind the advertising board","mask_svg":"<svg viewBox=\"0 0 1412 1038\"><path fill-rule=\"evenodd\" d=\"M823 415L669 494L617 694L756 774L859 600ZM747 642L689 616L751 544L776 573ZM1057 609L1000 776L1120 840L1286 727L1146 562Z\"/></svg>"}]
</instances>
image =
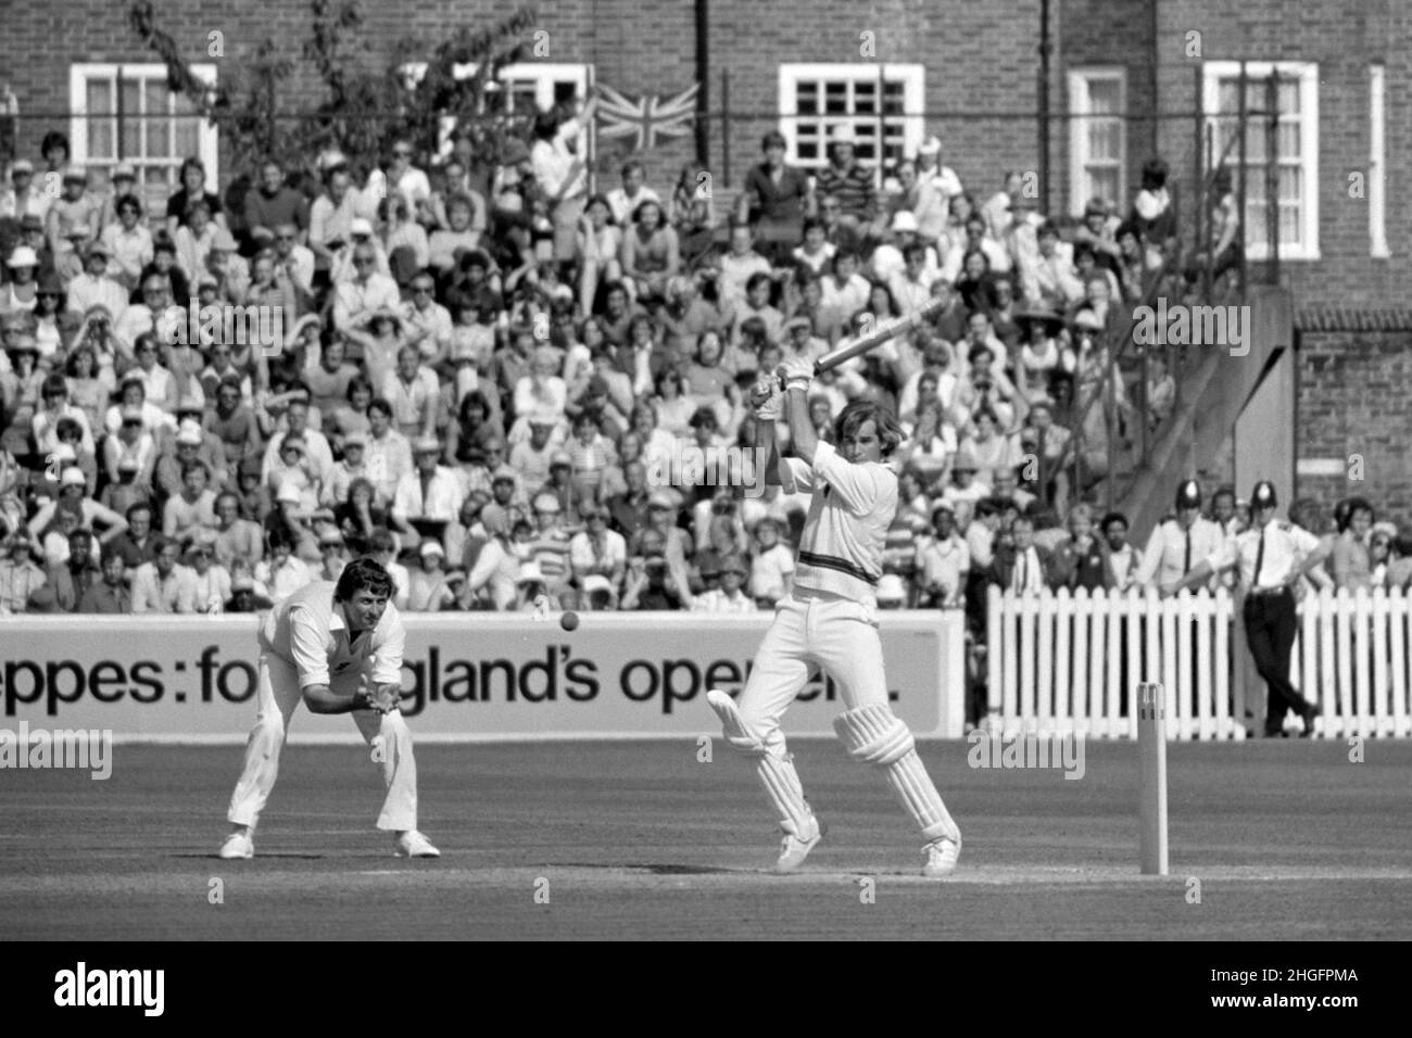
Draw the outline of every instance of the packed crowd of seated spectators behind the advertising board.
<instances>
[{"instance_id":1,"label":"packed crowd of seated spectators behind the advertising board","mask_svg":"<svg viewBox=\"0 0 1412 1038\"><path fill-rule=\"evenodd\" d=\"M1066 223L1019 175L967 191L935 137L877 177L846 129L816 174L771 133L726 213L696 165L659 192L628 160L592 193L582 127L542 113L490 168L465 137L428 168L407 140L297 182L271 158L243 198L191 158L161 212L61 134L11 162L0 613L254 612L363 554L412 612L770 607L808 499L672 459L753 445L758 371L932 299L812 391L825 439L858 397L905 432L880 603L1123 586L1127 524L1067 462L1106 470L1110 426L1075 408L1106 373L1120 435L1173 400L1159 356L1141 391L1110 356L1175 254L1161 161L1125 213ZM275 342L188 321L209 306L265 308ZM1374 579L1375 539L1339 572Z\"/></svg>"}]
</instances>

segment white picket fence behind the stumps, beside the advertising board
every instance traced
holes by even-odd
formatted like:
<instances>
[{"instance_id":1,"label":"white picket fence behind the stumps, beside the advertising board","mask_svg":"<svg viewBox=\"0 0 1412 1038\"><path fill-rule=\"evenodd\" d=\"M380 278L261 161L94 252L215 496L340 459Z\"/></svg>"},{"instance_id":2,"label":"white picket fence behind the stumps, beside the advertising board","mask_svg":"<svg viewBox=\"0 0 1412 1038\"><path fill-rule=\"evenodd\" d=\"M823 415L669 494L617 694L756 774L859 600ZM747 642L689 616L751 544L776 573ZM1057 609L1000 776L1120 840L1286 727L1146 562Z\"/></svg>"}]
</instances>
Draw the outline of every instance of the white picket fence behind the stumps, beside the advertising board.
<instances>
[{"instance_id":1,"label":"white picket fence behind the stumps, beside the advertising board","mask_svg":"<svg viewBox=\"0 0 1412 1038\"><path fill-rule=\"evenodd\" d=\"M1291 679L1323 708L1315 734L1412 736L1409 606L1401 589L1305 597ZM1224 589L1159 599L991 587L987 624L991 727L1135 739L1144 681L1165 691L1168 739L1244 739L1245 705L1262 716L1267 686Z\"/></svg>"}]
</instances>

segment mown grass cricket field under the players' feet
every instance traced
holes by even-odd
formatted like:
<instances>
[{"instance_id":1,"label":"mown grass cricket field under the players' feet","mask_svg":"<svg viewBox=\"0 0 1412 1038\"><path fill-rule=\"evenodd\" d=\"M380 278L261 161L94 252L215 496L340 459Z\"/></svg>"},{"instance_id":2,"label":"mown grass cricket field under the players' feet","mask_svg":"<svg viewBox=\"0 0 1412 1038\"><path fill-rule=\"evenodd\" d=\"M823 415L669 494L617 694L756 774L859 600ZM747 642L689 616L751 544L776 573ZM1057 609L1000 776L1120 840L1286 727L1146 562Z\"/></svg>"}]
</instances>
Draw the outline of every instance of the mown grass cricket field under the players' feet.
<instances>
[{"instance_id":1,"label":"mown grass cricket field under the players' feet","mask_svg":"<svg viewBox=\"0 0 1412 1038\"><path fill-rule=\"evenodd\" d=\"M412 722L415 732L415 720ZM421 826L439 860L373 829L360 747L292 746L257 857L220 861L237 747L117 746L113 775L0 771L7 939L1412 938L1412 743L1168 746L1169 877L1138 874L1137 746L1086 774L922 754L964 835L923 881L884 777L837 743L792 748L830 833L796 876L722 740L425 746ZM209 902L212 880L225 902ZM866 894L871 878L874 898ZM1200 881L1200 904L1192 904ZM541 900L548 894L548 904Z\"/></svg>"}]
</instances>

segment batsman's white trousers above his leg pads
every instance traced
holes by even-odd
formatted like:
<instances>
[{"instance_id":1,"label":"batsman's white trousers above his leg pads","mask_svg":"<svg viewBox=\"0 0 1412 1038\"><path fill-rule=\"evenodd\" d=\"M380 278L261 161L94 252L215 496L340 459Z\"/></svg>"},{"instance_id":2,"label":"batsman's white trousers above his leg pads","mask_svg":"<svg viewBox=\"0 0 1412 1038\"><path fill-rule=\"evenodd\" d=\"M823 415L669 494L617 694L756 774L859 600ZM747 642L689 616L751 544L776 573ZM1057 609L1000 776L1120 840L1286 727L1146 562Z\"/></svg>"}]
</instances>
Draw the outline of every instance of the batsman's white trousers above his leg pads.
<instances>
[{"instance_id":1,"label":"batsman's white trousers above his leg pads","mask_svg":"<svg viewBox=\"0 0 1412 1038\"><path fill-rule=\"evenodd\" d=\"M795 590L779 602L746 689L736 700L736 709L770 753L784 754L779 720L803 691L815 664L833 678L846 709L887 705L875 617L871 602L820 592Z\"/></svg>"}]
</instances>

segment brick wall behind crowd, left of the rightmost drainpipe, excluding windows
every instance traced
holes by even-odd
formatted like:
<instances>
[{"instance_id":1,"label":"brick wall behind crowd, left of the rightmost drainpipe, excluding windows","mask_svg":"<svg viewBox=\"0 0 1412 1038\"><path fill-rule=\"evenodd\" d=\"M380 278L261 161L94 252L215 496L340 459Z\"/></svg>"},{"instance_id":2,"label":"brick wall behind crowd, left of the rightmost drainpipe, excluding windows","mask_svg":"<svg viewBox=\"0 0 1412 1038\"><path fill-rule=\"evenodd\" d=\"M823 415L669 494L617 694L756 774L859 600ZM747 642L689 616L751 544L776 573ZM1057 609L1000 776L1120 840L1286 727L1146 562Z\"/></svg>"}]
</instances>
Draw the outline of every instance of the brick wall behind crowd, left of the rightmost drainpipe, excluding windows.
<instances>
[{"instance_id":1,"label":"brick wall behind crowd, left of the rightmost drainpipe, excluding windows","mask_svg":"<svg viewBox=\"0 0 1412 1038\"><path fill-rule=\"evenodd\" d=\"M1058 7L1058 6L1056 6ZM428 49L450 28L474 24L477 14L504 16L513 10L487 0L387 0L363 3L363 38L367 64L387 61L395 40L428 41ZM168 0L160 8L161 25L192 61L209 61L206 34L225 34L225 62L239 62L265 37L289 41L287 52L309 32L308 6L302 1L254 0L230 7L209 0ZM854 0L788 0L761 6L746 0L716 0L710 7L713 75L710 106L722 103L722 73L730 78L731 109L748 117L730 124L731 177L726 192L738 186L760 158L761 136L778 126L767 113L779 107L781 62L864 62L860 32L875 34L877 62L926 65L929 112L960 113L928 121L926 131L942 137L943 161L953 165L977 195L988 196L1004 169L1034 169L1035 144L1035 41L1039 0L997 0L984 7L960 0L894 0L860 7ZM1058 21L1058 16L1055 18ZM538 25L549 32L548 61L592 62L599 80L630 93L669 93L696 75L695 11L689 0L578 0L541 3ZM0 79L8 79L25 113L20 148L37 154L49 129L68 130L69 65L73 61L150 62L152 55L127 25L126 4L72 0L62 6L17 8L7 20L6 54ZM23 55L23 58L20 58ZM222 59L216 59L217 68ZM1056 75L1056 82L1062 76ZM289 90L315 99L312 78L294 79ZM1058 92L1055 99L1058 102ZM1010 119L977 113L1008 112ZM712 165L723 158L723 126L709 126ZM692 137L644 155L650 181L658 189L675 182L685 161L695 154ZM621 145L604 143L603 184L617 184ZM1058 158L1058 155L1056 155ZM1056 177L1056 181L1059 178Z\"/></svg>"}]
</instances>

